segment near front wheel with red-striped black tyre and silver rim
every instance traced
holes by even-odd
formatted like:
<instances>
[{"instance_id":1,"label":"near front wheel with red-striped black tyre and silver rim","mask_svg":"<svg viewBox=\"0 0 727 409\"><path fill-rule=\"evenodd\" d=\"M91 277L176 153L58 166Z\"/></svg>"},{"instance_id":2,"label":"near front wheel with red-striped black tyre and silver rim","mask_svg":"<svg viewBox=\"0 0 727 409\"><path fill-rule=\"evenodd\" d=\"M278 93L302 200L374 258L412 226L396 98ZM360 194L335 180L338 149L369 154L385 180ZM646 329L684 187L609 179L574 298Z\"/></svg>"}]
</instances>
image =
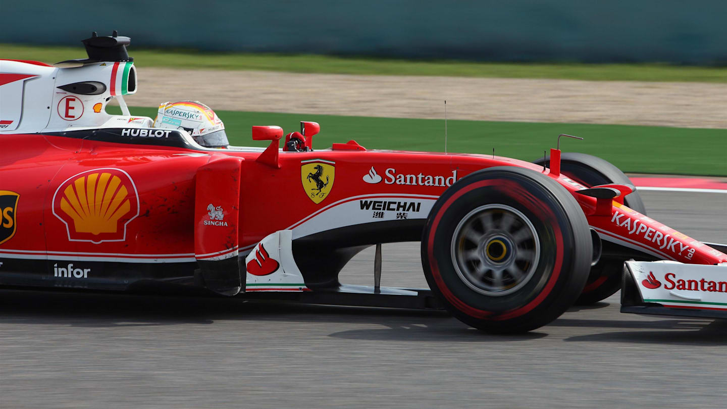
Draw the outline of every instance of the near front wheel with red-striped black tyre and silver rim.
<instances>
[{"instance_id":1,"label":"near front wheel with red-striped black tyre and silver rim","mask_svg":"<svg viewBox=\"0 0 727 409\"><path fill-rule=\"evenodd\" d=\"M553 321L581 293L592 245L558 182L519 167L473 172L435 203L422 234L425 277L455 317L491 333Z\"/></svg>"}]
</instances>

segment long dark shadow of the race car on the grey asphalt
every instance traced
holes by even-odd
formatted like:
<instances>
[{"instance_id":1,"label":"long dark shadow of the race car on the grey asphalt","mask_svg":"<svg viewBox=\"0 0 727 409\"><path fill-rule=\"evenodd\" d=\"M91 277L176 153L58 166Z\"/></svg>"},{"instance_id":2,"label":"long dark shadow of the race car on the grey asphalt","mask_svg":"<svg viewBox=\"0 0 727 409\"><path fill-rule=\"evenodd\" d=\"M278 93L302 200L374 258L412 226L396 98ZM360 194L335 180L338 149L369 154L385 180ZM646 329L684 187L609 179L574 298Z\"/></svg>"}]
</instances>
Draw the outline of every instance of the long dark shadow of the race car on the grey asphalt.
<instances>
[{"instance_id":1,"label":"long dark shadow of the race car on the grey asphalt","mask_svg":"<svg viewBox=\"0 0 727 409\"><path fill-rule=\"evenodd\" d=\"M601 309L608 305L599 303L597 308ZM577 310L578 308L571 309L570 312ZM608 311L602 311L608 314ZM246 302L222 297L0 290L0 324L6 325L132 327L212 325L218 320L331 322L381 326L329 334L334 338L364 341L529 341L547 336L547 331L522 335L488 335L467 327L445 311L316 306L272 301ZM634 330L579 335L566 338L566 341L727 344L727 337L723 337L727 333L727 323L719 321L710 324L704 320L688 319L619 320L561 317L543 329L547 330L548 327ZM723 338L726 341L723 341Z\"/></svg>"}]
</instances>

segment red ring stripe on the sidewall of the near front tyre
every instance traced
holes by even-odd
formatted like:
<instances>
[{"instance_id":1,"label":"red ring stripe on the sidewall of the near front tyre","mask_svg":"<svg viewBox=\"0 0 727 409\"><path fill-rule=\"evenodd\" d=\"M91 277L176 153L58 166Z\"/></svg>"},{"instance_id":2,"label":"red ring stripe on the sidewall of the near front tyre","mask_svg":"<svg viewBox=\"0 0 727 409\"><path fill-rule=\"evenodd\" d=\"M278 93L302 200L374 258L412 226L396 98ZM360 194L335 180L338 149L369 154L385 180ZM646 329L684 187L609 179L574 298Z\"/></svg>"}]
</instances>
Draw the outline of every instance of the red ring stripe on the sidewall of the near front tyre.
<instances>
[{"instance_id":1,"label":"red ring stripe on the sidewall of the near front tyre","mask_svg":"<svg viewBox=\"0 0 727 409\"><path fill-rule=\"evenodd\" d=\"M510 185L510 186L507 186ZM528 313L532 309L534 309L539 303L541 303L547 295L550 293L550 290L553 290L553 287L555 286L555 282L558 281L558 277L561 274L561 266L563 265L563 237L561 234L561 228L558 226L558 223L551 223L551 226L553 227L553 233L555 234L555 242L556 242L556 248L558 251L555 255L555 264L553 266L553 274L550 276L550 279L548 279L547 284L539 293L539 295L534 298L533 301L530 301L524 306L518 307L517 309L513 309L510 311L506 311L504 314L499 314L497 317L491 317L492 314L494 314L493 311L484 311L481 309L476 309L473 306L467 305L464 301L457 298L456 295L451 293L448 287L444 284L444 280L441 277L441 274L439 272L439 267L437 264L437 261L435 260L433 256L433 250L434 250L434 237L437 231L437 226L439 225L439 222L441 221L442 215L446 212L446 210L451 206L452 202L457 200L462 195L466 194L467 192L473 191L475 188L481 188L485 186L503 186L505 188L513 188L513 190L517 191L518 193L524 194L526 196L530 196L529 198L531 200L536 200L537 202L541 202L536 197L532 196L528 191L526 191L522 186L518 185L518 183L512 182L510 180L481 180L479 182L475 182L470 184L469 186L465 186L464 188L457 191L457 193L453 194L449 199L444 202L442 207L439 209L436 217L434 218L434 221L432 222L432 228L430 229L431 234L429 239L427 240L427 252L429 253L429 265L430 269L432 271L432 275L435 279L435 282L437 283L438 289L441 291L441 293L444 295L444 298L446 298L449 303L452 304L455 308L457 308L459 311L464 312L465 314L468 314L472 317L478 318L478 319L510 319L519 317L523 314ZM550 210L547 207L546 208L538 208L533 209L532 205L529 203L523 203L524 206L528 207L529 210L533 211L533 213L538 213L538 211L542 210ZM551 213L552 215L552 213ZM555 215L553 215L553 221L555 221Z\"/></svg>"}]
</instances>

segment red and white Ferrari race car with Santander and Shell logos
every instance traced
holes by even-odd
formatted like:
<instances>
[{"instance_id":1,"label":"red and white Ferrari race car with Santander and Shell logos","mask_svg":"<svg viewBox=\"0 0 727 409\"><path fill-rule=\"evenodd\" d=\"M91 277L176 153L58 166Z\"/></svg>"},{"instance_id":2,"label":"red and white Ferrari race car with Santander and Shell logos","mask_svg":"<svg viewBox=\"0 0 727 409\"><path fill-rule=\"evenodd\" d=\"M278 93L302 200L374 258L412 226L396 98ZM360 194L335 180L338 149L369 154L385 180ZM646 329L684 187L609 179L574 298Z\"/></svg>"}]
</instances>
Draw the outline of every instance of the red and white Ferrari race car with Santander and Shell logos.
<instances>
[{"instance_id":1,"label":"red and white Ferrari race car with Santander and Shell logos","mask_svg":"<svg viewBox=\"0 0 727 409\"><path fill-rule=\"evenodd\" d=\"M209 148L129 113L128 37L83 42L83 60L0 60L0 285L443 308L489 332L622 287L623 311L727 314L727 255L648 218L602 159L314 150L315 122L282 149L276 126L252 127L267 148ZM381 244L410 241L430 288L381 287ZM374 285L340 283L369 246Z\"/></svg>"}]
</instances>

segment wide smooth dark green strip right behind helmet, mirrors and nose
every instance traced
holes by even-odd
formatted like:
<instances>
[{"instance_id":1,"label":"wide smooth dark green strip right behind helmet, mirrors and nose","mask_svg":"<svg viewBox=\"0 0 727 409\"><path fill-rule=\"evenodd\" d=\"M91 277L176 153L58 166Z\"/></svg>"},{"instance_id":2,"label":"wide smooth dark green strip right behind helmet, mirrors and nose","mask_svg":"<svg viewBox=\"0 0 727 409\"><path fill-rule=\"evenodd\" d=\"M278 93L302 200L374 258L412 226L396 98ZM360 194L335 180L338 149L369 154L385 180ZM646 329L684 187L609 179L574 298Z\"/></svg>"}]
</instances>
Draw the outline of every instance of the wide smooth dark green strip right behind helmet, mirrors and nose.
<instances>
[{"instance_id":1,"label":"wide smooth dark green strip right behind helmet, mirrors and nose","mask_svg":"<svg viewBox=\"0 0 727 409\"><path fill-rule=\"evenodd\" d=\"M108 110L119 114L118 107ZM156 108L131 108L132 114L156 116ZM316 121L321 133L313 148L356 140L366 148L444 151L444 122L364 116L271 114L217 111L237 146L267 146L253 141L252 125L279 125L286 133L300 121ZM727 130L598 124L456 121L447 124L449 152L495 154L532 161L555 147L561 133L585 140L561 139L563 151L600 156L624 172L727 176Z\"/></svg>"}]
</instances>

